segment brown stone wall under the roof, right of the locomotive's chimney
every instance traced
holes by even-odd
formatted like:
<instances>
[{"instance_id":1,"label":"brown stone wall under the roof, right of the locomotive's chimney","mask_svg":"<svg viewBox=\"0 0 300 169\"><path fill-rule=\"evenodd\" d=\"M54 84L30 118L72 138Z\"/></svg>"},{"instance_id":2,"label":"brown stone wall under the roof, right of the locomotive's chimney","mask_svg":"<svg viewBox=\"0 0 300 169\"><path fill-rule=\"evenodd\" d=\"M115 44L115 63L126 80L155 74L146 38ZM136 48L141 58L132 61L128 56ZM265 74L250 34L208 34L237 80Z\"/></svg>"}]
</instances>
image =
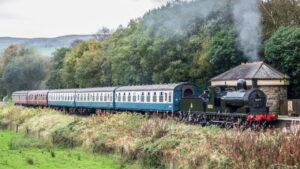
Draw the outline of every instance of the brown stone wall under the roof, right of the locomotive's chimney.
<instances>
[{"instance_id":1,"label":"brown stone wall under the roof, right of the locomotive's chimney","mask_svg":"<svg viewBox=\"0 0 300 169\"><path fill-rule=\"evenodd\" d=\"M267 106L271 113L280 113L282 100L287 99L287 86L259 86L267 95Z\"/></svg>"}]
</instances>

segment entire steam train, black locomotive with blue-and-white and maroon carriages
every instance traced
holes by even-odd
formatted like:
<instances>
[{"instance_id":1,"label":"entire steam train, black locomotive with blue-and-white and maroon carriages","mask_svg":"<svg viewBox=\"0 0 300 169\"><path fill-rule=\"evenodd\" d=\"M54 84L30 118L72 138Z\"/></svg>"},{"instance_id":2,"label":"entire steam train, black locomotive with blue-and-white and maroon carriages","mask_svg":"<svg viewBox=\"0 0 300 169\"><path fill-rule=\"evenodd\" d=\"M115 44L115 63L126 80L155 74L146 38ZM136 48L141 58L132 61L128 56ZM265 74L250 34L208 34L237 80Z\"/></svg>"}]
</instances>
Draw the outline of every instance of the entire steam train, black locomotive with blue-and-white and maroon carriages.
<instances>
[{"instance_id":1,"label":"entire steam train, black locomotive with blue-and-white and maroon carriages","mask_svg":"<svg viewBox=\"0 0 300 169\"><path fill-rule=\"evenodd\" d=\"M252 79L250 89L246 81L240 79L236 88L210 86L203 93L196 85L181 82L16 91L12 98L16 105L49 107L78 115L138 112L200 125L265 125L277 119L275 114L269 112L267 96L258 89L257 79Z\"/></svg>"}]
</instances>

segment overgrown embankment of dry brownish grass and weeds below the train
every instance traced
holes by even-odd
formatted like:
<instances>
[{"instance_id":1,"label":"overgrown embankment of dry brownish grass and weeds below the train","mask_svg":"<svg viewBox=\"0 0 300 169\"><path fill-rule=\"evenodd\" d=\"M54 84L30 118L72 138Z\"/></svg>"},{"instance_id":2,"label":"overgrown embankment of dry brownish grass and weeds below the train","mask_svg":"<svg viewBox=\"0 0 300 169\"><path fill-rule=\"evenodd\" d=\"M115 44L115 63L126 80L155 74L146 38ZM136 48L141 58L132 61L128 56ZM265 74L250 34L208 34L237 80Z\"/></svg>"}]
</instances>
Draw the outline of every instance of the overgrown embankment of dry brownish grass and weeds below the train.
<instances>
[{"instance_id":1,"label":"overgrown embankment of dry brownish grass and weeds below the train","mask_svg":"<svg viewBox=\"0 0 300 169\"><path fill-rule=\"evenodd\" d=\"M63 147L161 168L300 168L300 128L264 132L199 127L139 114L78 117L50 109L0 108L2 128Z\"/></svg>"}]
</instances>

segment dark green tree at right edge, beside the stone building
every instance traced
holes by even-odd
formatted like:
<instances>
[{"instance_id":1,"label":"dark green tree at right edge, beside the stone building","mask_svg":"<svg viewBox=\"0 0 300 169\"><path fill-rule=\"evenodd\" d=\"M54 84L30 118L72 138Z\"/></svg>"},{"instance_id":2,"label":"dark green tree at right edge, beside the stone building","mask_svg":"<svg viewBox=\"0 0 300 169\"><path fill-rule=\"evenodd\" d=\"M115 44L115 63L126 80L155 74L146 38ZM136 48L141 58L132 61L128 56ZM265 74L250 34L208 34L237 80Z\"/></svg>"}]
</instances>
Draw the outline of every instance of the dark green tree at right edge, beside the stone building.
<instances>
[{"instance_id":1,"label":"dark green tree at right edge, beside the stone building","mask_svg":"<svg viewBox=\"0 0 300 169\"><path fill-rule=\"evenodd\" d=\"M265 59L291 77L290 98L300 97L300 27L281 27L265 42Z\"/></svg>"}]
</instances>

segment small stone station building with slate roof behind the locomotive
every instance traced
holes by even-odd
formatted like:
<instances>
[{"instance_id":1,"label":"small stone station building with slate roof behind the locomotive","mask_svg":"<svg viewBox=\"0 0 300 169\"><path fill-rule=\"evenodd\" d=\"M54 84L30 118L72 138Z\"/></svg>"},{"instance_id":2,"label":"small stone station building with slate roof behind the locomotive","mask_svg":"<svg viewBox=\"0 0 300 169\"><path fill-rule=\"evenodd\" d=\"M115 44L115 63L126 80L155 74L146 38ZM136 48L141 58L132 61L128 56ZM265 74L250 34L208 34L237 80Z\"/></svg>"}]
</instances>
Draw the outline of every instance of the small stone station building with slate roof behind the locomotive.
<instances>
[{"instance_id":1,"label":"small stone station building with slate roof behind the locomotive","mask_svg":"<svg viewBox=\"0 0 300 169\"><path fill-rule=\"evenodd\" d=\"M258 87L267 95L270 112L279 113L280 105L287 99L287 86L290 77L277 71L264 62L242 63L211 79L211 85L237 86L238 79L245 79L251 88L251 79L256 78Z\"/></svg>"}]
</instances>

